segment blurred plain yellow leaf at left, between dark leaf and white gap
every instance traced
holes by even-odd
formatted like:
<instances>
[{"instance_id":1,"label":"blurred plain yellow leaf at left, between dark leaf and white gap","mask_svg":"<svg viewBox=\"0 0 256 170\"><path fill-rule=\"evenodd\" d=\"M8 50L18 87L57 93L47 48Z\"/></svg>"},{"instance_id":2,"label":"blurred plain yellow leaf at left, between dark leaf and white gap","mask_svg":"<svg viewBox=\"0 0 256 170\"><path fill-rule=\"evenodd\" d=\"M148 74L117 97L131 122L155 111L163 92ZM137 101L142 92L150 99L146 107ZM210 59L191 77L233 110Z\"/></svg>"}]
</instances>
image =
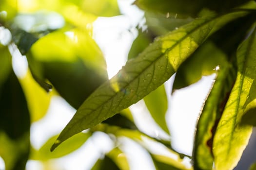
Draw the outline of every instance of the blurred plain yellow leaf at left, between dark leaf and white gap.
<instances>
[{"instance_id":1,"label":"blurred plain yellow leaf at left, between dark leaf and white gap","mask_svg":"<svg viewBox=\"0 0 256 170\"><path fill-rule=\"evenodd\" d=\"M41 119L48 110L52 93L47 93L42 89L33 79L30 71L20 79L20 84L26 96L31 122Z\"/></svg>"}]
</instances>

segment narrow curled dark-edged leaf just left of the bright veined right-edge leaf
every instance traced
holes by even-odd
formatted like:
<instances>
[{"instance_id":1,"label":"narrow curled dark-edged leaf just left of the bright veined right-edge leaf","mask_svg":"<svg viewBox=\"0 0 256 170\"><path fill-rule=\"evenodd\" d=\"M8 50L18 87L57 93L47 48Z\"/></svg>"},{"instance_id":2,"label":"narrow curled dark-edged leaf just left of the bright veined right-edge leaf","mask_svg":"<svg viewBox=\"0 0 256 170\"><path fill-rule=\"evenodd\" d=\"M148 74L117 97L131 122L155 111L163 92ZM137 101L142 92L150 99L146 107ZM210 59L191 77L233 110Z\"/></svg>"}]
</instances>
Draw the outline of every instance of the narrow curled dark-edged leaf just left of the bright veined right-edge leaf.
<instances>
[{"instance_id":1,"label":"narrow curled dark-edged leaf just left of the bright veined right-edge leaf","mask_svg":"<svg viewBox=\"0 0 256 170\"><path fill-rule=\"evenodd\" d=\"M197 132L193 148L193 164L195 169L211 170L213 168L213 137L235 80L236 69L231 64L222 65L217 71L217 79L197 122Z\"/></svg>"}]
</instances>

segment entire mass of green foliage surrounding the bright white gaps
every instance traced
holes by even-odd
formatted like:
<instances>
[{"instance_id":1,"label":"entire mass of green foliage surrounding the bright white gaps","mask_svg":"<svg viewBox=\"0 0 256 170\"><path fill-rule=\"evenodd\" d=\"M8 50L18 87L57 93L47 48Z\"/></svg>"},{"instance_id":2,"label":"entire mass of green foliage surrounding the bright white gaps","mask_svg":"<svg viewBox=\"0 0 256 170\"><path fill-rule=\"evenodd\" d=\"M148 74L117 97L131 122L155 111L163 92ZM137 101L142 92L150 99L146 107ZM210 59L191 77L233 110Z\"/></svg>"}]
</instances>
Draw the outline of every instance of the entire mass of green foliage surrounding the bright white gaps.
<instances>
[{"instance_id":1,"label":"entire mass of green foliage surrounding the bright white gaps","mask_svg":"<svg viewBox=\"0 0 256 170\"><path fill-rule=\"evenodd\" d=\"M138 24L126 65L108 80L93 23L98 17L120 15L118 3L0 0L0 156L5 169L24 170L29 159L41 161L44 169L58 169L53 160L78 150L97 131L107 134L114 146L92 170L130 169L121 137L145 148L157 170L190 169L184 165L184 156L190 156L172 148L165 119L170 94L163 83L174 73L173 91L216 74L197 122L191 169L210 170L213 162L216 170L233 169L256 125L256 2L135 0L145 12L146 25ZM12 49L26 55L23 77L17 78L12 69ZM44 118L54 95L77 113L59 136L35 149L31 123ZM138 128L133 114L139 113L127 107L142 99L168 139ZM152 152L149 141L174 157ZM62 142L50 152L53 143L51 150Z\"/></svg>"}]
</instances>

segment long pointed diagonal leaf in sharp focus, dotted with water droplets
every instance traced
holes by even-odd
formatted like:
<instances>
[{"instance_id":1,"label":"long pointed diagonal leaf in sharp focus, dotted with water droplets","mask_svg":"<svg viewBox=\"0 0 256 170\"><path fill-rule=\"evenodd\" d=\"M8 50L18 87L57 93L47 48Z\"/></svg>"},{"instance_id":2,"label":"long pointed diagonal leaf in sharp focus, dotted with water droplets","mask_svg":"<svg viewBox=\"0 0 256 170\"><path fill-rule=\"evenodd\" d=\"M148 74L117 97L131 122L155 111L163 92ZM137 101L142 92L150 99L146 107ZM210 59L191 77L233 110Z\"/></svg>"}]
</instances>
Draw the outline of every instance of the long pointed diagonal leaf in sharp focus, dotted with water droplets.
<instances>
[{"instance_id":1,"label":"long pointed diagonal leaf in sharp focus, dotted with water droplets","mask_svg":"<svg viewBox=\"0 0 256 170\"><path fill-rule=\"evenodd\" d=\"M210 34L227 22L246 14L247 11L238 10L216 17L211 13L206 18L198 18L178 30L158 37L83 102L51 150L67 138L141 100L167 81Z\"/></svg>"}]
</instances>

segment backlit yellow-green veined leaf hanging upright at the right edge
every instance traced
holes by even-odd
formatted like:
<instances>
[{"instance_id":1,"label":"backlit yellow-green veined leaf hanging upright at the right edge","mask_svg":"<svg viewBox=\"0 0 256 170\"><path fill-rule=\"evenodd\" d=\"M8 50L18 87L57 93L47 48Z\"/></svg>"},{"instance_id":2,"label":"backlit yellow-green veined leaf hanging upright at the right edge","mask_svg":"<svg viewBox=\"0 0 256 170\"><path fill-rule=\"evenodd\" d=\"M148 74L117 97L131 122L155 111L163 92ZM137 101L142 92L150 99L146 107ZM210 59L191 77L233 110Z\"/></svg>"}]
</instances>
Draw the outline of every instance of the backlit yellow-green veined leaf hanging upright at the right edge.
<instances>
[{"instance_id":1,"label":"backlit yellow-green veined leaf hanging upright at the right edge","mask_svg":"<svg viewBox=\"0 0 256 170\"><path fill-rule=\"evenodd\" d=\"M250 36L237 49L238 72L236 83L231 91L224 112L218 123L213 141L215 167L218 170L229 170L236 167L243 150L248 144L252 133L251 126L242 126L240 121L245 113L256 107L249 97L255 74L256 29L255 25ZM250 98L250 99L248 99Z\"/></svg>"}]
</instances>

